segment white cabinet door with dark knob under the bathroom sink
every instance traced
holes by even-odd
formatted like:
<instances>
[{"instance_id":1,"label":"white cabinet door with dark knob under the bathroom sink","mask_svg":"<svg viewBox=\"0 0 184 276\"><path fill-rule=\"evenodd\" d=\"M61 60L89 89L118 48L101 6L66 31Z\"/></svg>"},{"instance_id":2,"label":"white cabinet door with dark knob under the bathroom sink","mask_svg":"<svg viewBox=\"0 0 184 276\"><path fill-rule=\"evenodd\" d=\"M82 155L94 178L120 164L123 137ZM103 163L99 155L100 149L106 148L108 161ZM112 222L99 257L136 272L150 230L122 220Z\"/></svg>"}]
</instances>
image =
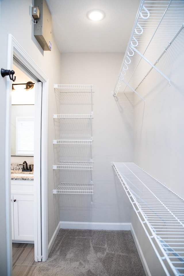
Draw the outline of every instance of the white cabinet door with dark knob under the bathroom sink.
<instances>
[{"instance_id":1,"label":"white cabinet door with dark knob under the bathroom sink","mask_svg":"<svg viewBox=\"0 0 184 276\"><path fill-rule=\"evenodd\" d=\"M14 239L34 241L34 196L14 195Z\"/></svg>"}]
</instances>

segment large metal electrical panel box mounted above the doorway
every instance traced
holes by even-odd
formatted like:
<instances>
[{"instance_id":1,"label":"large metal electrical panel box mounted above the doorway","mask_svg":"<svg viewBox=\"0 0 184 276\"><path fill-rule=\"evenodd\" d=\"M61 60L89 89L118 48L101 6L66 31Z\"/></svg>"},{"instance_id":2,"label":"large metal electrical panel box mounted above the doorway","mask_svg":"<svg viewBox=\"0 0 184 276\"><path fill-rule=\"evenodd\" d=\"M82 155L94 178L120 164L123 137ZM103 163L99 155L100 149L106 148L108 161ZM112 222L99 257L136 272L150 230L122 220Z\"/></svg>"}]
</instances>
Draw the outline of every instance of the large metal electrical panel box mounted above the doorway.
<instances>
[{"instance_id":1,"label":"large metal electrical panel box mounted above the doorway","mask_svg":"<svg viewBox=\"0 0 184 276\"><path fill-rule=\"evenodd\" d=\"M35 0L34 6L39 8L40 16L34 24L34 36L44 51L51 51L52 18L45 0Z\"/></svg>"}]
</instances>

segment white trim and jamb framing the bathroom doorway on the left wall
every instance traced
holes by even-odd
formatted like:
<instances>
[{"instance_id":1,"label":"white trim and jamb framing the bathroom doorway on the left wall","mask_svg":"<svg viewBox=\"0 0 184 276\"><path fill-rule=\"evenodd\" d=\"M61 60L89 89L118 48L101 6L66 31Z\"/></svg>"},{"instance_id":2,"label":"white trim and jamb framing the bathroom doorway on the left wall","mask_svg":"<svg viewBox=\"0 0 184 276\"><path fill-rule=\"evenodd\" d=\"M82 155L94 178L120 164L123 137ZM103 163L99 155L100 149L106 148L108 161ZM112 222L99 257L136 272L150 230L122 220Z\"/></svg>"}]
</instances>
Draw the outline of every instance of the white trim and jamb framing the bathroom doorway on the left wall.
<instances>
[{"instance_id":1,"label":"white trim and jamb framing the bathroom doorway on the left wall","mask_svg":"<svg viewBox=\"0 0 184 276\"><path fill-rule=\"evenodd\" d=\"M7 68L13 67L13 60L29 72L35 81L35 101L34 114L35 126L34 131L34 253L35 261L45 261L48 258L48 238L47 238L47 98L48 98L48 78L18 44L18 42L9 34L8 60ZM16 76L16 72L15 72ZM12 81L8 78L7 82L7 130L6 130L6 189L7 189L7 256L9 260L9 273L12 270L12 239L11 239L11 90ZM43 93L42 93L43 91Z\"/></svg>"}]
</instances>

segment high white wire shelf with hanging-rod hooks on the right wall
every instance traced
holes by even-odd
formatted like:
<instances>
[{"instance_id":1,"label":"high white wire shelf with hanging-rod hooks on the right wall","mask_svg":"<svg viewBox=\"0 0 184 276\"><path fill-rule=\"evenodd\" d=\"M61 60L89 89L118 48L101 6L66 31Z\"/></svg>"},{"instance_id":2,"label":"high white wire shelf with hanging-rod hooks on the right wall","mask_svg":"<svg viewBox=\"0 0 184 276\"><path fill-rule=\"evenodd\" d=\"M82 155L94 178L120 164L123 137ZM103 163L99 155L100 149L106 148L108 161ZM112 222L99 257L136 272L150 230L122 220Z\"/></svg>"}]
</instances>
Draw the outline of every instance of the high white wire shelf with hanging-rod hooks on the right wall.
<instances>
[{"instance_id":1,"label":"high white wire shelf with hanging-rod hooks on the right wall","mask_svg":"<svg viewBox=\"0 0 184 276\"><path fill-rule=\"evenodd\" d=\"M160 72L155 65L182 30L183 22L184 1L141 0L118 80L114 87L114 96L119 91L137 93L137 87L152 68L162 74L170 85L170 79ZM137 95L139 94L137 93Z\"/></svg>"}]
</instances>

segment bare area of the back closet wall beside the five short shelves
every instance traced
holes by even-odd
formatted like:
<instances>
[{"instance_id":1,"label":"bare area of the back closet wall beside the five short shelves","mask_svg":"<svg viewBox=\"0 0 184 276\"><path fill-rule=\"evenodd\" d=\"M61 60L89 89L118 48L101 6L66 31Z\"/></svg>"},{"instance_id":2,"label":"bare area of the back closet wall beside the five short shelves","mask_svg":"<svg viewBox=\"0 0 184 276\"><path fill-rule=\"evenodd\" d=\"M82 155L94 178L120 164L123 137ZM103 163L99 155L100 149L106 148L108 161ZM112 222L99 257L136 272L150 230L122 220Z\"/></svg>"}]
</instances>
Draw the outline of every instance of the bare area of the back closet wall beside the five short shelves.
<instances>
[{"instance_id":1,"label":"bare area of the back closet wall beside the five short shelves","mask_svg":"<svg viewBox=\"0 0 184 276\"><path fill-rule=\"evenodd\" d=\"M94 85L92 159L94 195L60 195L60 220L130 222L126 199L114 183L112 161L133 160L133 94L115 100L111 91L122 53L65 53L61 55L63 84ZM62 156L61 156L62 158ZM60 160L58 160L60 161ZM58 196L58 195L57 195Z\"/></svg>"}]
</instances>

